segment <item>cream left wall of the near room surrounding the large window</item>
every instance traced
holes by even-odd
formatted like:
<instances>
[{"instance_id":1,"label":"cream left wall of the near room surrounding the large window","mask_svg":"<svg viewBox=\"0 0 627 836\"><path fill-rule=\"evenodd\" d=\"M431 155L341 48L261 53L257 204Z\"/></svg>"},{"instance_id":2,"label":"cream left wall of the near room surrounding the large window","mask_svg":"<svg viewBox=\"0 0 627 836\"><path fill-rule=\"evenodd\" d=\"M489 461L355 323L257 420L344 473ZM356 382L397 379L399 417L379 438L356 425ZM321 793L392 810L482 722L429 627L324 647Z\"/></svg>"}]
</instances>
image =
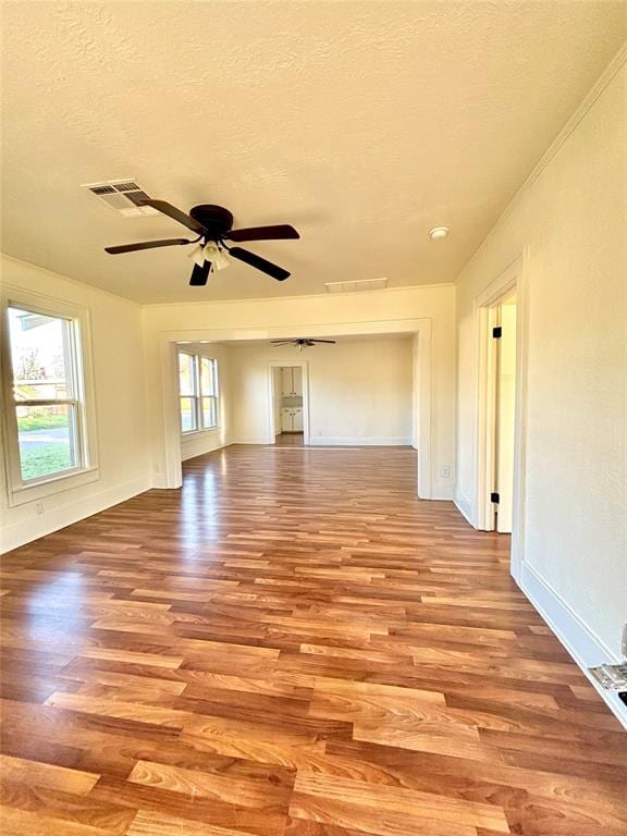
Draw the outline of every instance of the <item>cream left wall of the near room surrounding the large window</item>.
<instances>
[{"instance_id":1,"label":"cream left wall of the near room surrounding the large window","mask_svg":"<svg viewBox=\"0 0 627 836\"><path fill-rule=\"evenodd\" d=\"M2 286L88 308L96 388L100 478L35 503L8 507L0 484L1 551L35 540L151 487L146 422L142 309L119 296L2 257Z\"/></svg>"}]
</instances>

